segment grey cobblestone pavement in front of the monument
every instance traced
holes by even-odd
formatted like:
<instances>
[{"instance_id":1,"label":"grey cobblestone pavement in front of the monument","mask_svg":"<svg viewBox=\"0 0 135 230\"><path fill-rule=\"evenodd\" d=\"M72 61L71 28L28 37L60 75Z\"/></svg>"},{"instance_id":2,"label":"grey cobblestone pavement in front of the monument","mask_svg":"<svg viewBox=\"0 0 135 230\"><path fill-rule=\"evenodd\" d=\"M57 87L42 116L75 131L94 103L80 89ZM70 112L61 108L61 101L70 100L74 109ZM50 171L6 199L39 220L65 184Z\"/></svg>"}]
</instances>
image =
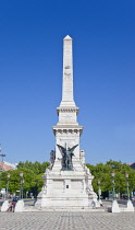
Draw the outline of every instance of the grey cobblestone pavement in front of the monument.
<instances>
[{"instance_id":1,"label":"grey cobblestone pavement in front of the monument","mask_svg":"<svg viewBox=\"0 0 135 230\"><path fill-rule=\"evenodd\" d=\"M0 230L134 230L135 212L0 212Z\"/></svg>"}]
</instances>

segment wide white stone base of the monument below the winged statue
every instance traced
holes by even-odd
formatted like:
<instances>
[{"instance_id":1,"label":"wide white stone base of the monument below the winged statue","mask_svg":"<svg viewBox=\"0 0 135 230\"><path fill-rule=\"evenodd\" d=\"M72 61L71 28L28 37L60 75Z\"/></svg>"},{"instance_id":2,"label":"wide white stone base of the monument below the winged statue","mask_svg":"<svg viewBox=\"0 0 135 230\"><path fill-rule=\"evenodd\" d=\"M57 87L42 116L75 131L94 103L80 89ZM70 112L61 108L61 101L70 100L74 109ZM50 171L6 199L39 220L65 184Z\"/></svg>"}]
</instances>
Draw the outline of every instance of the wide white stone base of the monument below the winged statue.
<instances>
[{"instance_id":1,"label":"wide white stone base of the monument below the winged statue","mask_svg":"<svg viewBox=\"0 0 135 230\"><path fill-rule=\"evenodd\" d=\"M84 210L100 207L91 186L93 175L79 171L46 171L45 186L38 194L35 208L46 210Z\"/></svg>"}]
</instances>

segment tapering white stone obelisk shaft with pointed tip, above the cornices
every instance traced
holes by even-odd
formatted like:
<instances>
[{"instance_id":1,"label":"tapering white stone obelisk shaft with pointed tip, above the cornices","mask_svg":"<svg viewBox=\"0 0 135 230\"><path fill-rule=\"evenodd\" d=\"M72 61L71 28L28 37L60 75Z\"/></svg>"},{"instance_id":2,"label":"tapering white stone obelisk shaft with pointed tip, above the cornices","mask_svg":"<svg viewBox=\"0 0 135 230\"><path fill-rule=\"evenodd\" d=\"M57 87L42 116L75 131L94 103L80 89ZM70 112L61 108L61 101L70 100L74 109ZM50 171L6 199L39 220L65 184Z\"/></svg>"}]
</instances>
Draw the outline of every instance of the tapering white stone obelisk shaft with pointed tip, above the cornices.
<instances>
[{"instance_id":1,"label":"tapering white stone obelisk shaft with pointed tip, above the cornices","mask_svg":"<svg viewBox=\"0 0 135 230\"><path fill-rule=\"evenodd\" d=\"M69 35L63 39L63 88L60 106L75 106L73 95L72 38Z\"/></svg>"}]
</instances>

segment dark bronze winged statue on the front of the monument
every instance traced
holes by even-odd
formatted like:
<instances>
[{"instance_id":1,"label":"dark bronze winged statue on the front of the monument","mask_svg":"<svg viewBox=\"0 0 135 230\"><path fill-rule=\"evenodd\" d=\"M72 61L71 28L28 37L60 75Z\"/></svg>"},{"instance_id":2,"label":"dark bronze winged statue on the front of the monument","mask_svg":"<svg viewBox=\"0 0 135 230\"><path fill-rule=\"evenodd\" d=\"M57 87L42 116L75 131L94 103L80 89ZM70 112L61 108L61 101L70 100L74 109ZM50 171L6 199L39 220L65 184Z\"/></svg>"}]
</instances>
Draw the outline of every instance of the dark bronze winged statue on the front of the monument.
<instances>
[{"instance_id":1,"label":"dark bronze winged statue on the front of the monument","mask_svg":"<svg viewBox=\"0 0 135 230\"><path fill-rule=\"evenodd\" d=\"M65 143L65 148L63 146L57 145L61 151L62 154L62 170L63 171L71 171L73 170L73 163L72 163L72 157L74 156L73 151L78 146L73 146L72 148L69 148Z\"/></svg>"}]
</instances>

